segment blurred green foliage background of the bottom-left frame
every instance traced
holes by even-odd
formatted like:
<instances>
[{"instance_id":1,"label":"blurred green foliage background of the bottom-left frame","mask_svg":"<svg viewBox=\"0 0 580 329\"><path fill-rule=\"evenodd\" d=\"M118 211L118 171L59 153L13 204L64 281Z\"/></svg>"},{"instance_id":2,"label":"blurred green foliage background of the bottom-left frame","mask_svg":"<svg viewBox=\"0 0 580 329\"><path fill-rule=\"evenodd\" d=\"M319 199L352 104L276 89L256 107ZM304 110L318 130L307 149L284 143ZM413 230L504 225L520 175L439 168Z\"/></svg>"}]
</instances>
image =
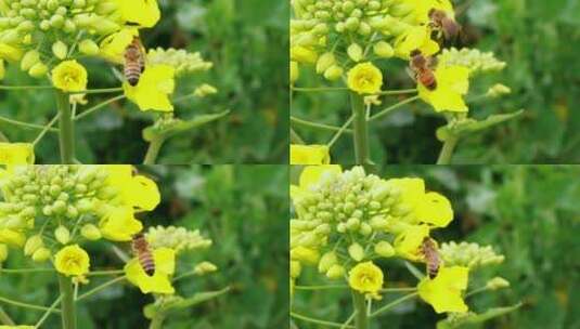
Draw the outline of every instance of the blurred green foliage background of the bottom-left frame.
<instances>
[{"instance_id":1,"label":"blurred green foliage background of the bottom-left frame","mask_svg":"<svg viewBox=\"0 0 580 329\"><path fill-rule=\"evenodd\" d=\"M162 190L162 203L140 218L145 227L175 225L199 229L214 245L194 254L178 258L177 274L190 271L199 261L210 261L219 269L203 277L177 282L184 297L208 290L231 290L189 312L177 313L164 328L284 328L287 326L287 212L288 173L275 166L141 167ZM91 268L121 268L112 244L87 246ZM129 246L119 246L129 248ZM11 250L2 266L33 267L22 251ZM90 278L89 287L109 278ZM50 305L59 291L53 274L0 274L0 297ZM82 292L81 291L81 292ZM79 328L147 328L142 307L153 302L129 284L109 287L78 303ZM42 312L14 307L0 301L18 324L35 324ZM60 317L51 316L42 328L60 328Z\"/></svg>"}]
</instances>

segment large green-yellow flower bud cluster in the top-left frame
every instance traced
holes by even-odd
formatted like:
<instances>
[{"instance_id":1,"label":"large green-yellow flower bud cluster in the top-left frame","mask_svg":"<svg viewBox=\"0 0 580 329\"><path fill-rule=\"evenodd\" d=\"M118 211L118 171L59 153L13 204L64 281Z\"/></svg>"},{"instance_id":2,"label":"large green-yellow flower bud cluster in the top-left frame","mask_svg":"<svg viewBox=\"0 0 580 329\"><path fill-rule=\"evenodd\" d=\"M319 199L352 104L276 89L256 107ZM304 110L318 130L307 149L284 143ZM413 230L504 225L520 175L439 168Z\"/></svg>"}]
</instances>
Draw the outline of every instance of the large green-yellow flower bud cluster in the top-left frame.
<instances>
[{"instance_id":1,"label":"large green-yellow flower bud cluster in the top-left frame","mask_svg":"<svg viewBox=\"0 0 580 329\"><path fill-rule=\"evenodd\" d=\"M50 60L67 57L73 43L80 53L96 55L96 41L121 25L115 1L2 0L0 58L22 60L23 70L43 77Z\"/></svg>"}]
</instances>

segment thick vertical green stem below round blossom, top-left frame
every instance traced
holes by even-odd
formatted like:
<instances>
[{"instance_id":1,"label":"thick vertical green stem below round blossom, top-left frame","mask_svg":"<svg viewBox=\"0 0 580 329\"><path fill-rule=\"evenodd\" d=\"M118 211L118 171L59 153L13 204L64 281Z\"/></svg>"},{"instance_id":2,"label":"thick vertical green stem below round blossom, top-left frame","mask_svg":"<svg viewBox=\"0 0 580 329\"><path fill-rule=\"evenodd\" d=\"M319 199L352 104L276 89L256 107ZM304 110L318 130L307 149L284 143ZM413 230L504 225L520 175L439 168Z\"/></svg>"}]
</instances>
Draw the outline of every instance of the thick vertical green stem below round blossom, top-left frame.
<instances>
[{"instance_id":1,"label":"thick vertical green stem below round blossom, top-left frame","mask_svg":"<svg viewBox=\"0 0 580 329\"><path fill-rule=\"evenodd\" d=\"M63 164L72 164L75 160L75 127L73 122L73 113L70 111L70 104L68 95L57 90L56 106L59 107L59 141L61 147L61 162Z\"/></svg>"}]
</instances>

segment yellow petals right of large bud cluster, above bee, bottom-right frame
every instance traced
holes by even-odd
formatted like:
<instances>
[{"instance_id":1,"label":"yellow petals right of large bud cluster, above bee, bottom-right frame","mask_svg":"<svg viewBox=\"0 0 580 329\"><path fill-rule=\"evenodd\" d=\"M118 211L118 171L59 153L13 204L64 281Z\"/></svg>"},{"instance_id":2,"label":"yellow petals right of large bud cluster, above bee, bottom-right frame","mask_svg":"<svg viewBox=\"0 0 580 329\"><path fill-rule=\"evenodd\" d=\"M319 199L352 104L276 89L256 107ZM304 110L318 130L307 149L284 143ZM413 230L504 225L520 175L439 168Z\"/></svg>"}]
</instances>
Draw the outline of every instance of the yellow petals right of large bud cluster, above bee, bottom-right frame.
<instances>
[{"instance_id":1,"label":"yellow petals right of large bud cluster, above bee, bottom-right frame","mask_svg":"<svg viewBox=\"0 0 580 329\"><path fill-rule=\"evenodd\" d=\"M442 195L425 193L425 182L422 179L391 179L389 184L401 193L401 202L412 211L407 216L411 224L426 223L436 227L446 227L453 220L451 202Z\"/></svg>"}]
</instances>

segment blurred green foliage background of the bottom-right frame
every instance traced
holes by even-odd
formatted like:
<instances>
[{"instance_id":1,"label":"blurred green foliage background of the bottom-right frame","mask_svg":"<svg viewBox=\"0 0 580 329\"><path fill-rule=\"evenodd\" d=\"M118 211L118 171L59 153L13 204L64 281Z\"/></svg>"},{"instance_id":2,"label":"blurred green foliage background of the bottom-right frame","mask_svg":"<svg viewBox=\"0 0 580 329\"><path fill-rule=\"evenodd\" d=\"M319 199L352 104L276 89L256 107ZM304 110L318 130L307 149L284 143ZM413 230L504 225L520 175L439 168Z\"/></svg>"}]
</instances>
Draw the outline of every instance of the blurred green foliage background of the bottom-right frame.
<instances>
[{"instance_id":1,"label":"blurred green foliage background of the bottom-right frame","mask_svg":"<svg viewBox=\"0 0 580 329\"><path fill-rule=\"evenodd\" d=\"M294 168L296 182L299 170ZM580 168L577 166L389 166L381 176L418 176L426 188L447 196L455 219L447 228L433 232L439 241L491 245L505 255L498 266L485 267L469 277L469 288L501 276L512 287L467 299L471 310L524 305L481 328L580 328ZM379 263L386 285L415 285L400 261ZM418 264L421 266L421 264ZM420 267L421 268L421 267ZM298 285L324 282L314 268ZM385 295L381 305L401 294ZM315 318L344 321L351 313L347 291L295 291L294 310ZM441 319L423 302L408 302L382 315L372 328L435 328ZM323 328L297 321L301 329ZM478 327L468 327L478 328Z\"/></svg>"}]
</instances>

